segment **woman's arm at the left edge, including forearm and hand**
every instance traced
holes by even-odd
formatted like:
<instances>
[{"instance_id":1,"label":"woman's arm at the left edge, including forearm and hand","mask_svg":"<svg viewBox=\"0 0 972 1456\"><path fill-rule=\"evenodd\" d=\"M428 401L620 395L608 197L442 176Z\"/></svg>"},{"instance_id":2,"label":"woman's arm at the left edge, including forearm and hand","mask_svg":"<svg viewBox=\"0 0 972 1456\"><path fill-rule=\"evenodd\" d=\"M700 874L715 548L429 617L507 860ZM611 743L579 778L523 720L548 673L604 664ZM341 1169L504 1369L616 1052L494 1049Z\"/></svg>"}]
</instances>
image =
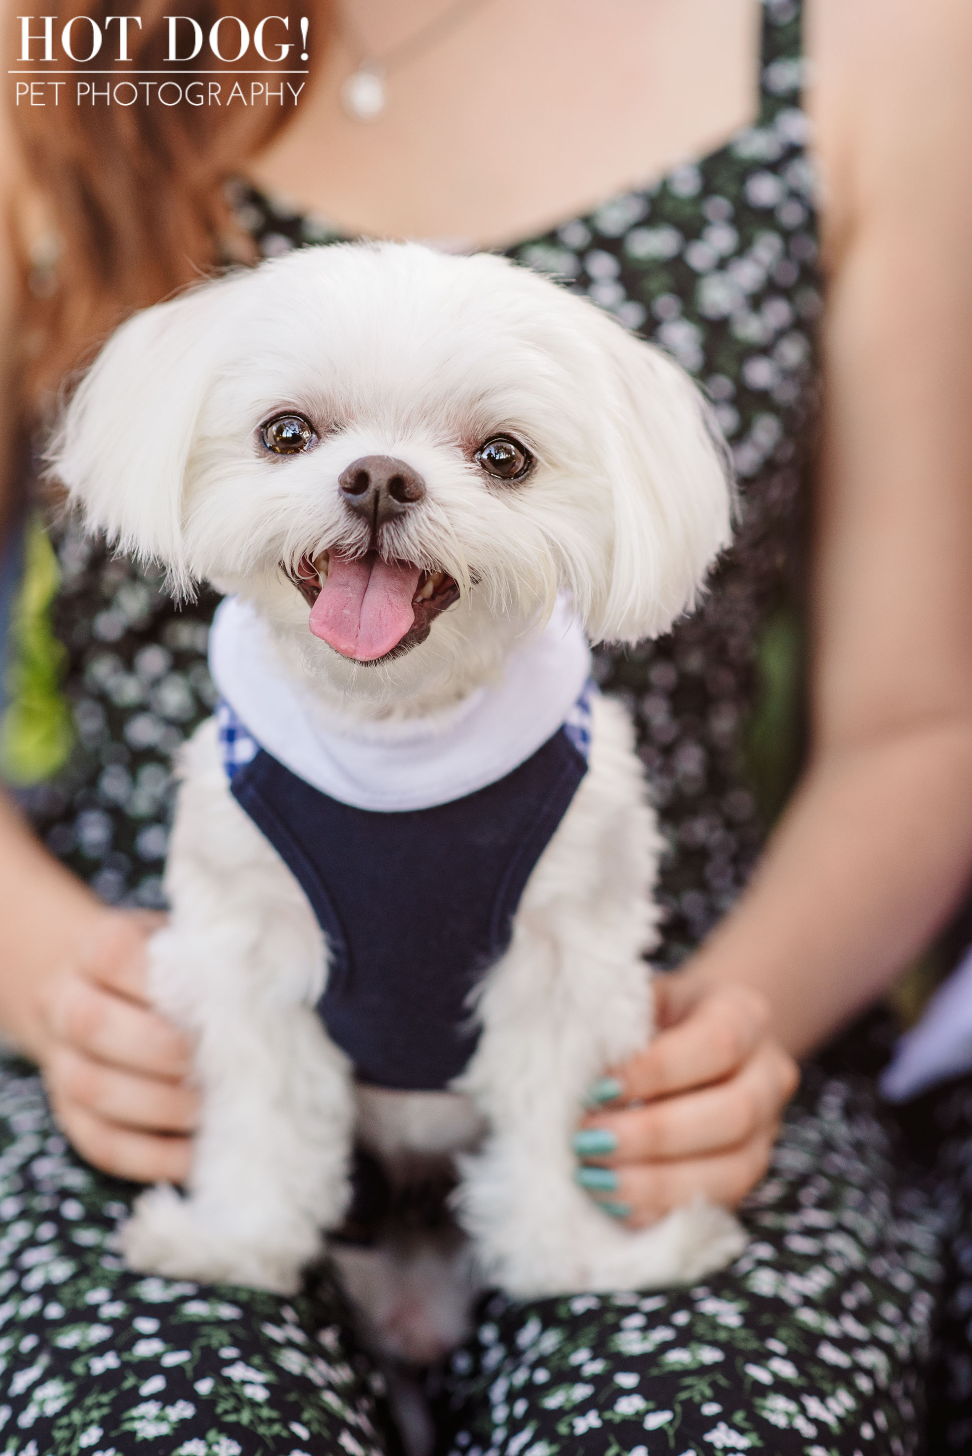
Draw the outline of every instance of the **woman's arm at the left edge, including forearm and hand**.
<instances>
[{"instance_id":1,"label":"woman's arm at the left edge, including forearm and hand","mask_svg":"<svg viewBox=\"0 0 972 1456\"><path fill-rule=\"evenodd\" d=\"M0 108L0 215L23 223L16 147ZM17 428L19 277L0 233L0 507ZM6 513L0 508L0 533ZM44 1070L58 1121L93 1163L127 1178L179 1179L195 1093L189 1047L148 1006L144 945L156 919L109 910L35 840L0 791L0 1032Z\"/></svg>"}]
</instances>

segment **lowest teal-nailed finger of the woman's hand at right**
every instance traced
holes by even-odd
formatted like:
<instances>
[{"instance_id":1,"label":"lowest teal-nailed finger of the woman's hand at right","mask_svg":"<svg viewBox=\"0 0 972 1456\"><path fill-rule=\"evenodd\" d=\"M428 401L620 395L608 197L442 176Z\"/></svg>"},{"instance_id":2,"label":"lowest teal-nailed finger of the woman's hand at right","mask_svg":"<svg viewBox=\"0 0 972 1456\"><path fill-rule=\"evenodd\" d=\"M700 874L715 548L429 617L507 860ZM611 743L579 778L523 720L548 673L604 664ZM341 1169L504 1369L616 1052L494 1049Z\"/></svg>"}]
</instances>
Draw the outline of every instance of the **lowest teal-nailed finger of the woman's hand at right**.
<instances>
[{"instance_id":1,"label":"lowest teal-nailed finger of the woman's hand at right","mask_svg":"<svg viewBox=\"0 0 972 1456\"><path fill-rule=\"evenodd\" d=\"M581 1169L578 1176L605 1213L630 1227L645 1227L700 1197L735 1208L770 1166L773 1143L773 1133L764 1133L709 1158ZM585 1179L585 1172L591 1178Z\"/></svg>"}]
</instances>

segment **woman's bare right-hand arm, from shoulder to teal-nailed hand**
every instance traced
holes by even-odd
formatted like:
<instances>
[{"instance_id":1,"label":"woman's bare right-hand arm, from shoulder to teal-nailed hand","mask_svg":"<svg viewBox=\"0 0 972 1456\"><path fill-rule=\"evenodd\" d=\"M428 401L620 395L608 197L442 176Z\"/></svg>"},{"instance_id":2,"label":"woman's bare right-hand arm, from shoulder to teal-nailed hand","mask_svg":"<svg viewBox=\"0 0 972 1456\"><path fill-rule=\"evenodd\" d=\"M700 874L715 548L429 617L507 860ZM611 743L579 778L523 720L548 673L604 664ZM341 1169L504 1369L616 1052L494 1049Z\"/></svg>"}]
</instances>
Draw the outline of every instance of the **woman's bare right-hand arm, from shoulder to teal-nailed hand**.
<instances>
[{"instance_id":1,"label":"woman's bare right-hand arm, from shoulder to teal-nailed hand","mask_svg":"<svg viewBox=\"0 0 972 1456\"><path fill-rule=\"evenodd\" d=\"M812 751L735 911L662 992L602 1112L642 1222L761 1175L818 1045L972 874L972 12L818 0L829 288ZM783 1050L786 1048L786 1051Z\"/></svg>"}]
</instances>

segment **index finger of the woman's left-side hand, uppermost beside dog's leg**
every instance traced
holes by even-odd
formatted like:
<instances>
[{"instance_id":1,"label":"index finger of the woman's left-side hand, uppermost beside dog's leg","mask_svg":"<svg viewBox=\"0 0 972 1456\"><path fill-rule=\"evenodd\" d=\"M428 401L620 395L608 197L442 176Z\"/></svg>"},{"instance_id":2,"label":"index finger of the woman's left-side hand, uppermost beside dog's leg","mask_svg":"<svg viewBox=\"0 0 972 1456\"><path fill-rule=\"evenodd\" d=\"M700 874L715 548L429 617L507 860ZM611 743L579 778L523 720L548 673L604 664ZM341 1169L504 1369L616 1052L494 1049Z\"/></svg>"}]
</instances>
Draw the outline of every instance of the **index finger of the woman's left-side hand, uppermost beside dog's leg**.
<instances>
[{"instance_id":1,"label":"index finger of the woman's left-side hand, uppermost beside dog's leg","mask_svg":"<svg viewBox=\"0 0 972 1456\"><path fill-rule=\"evenodd\" d=\"M61 978L48 1024L55 1041L109 1066L173 1080L192 1067L192 1044L178 1026L80 976Z\"/></svg>"}]
</instances>

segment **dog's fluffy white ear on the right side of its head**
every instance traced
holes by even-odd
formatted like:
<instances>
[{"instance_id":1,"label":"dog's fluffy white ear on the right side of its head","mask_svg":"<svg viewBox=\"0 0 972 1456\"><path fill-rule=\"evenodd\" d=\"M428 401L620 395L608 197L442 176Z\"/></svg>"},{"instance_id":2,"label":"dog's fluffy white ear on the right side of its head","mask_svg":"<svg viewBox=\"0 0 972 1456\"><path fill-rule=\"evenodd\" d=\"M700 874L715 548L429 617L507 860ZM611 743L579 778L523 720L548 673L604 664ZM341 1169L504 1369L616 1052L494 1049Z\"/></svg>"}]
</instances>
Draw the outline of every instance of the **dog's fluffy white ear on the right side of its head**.
<instances>
[{"instance_id":1,"label":"dog's fluffy white ear on the right side of its head","mask_svg":"<svg viewBox=\"0 0 972 1456\"><path fill-rule=\"evenodd\" d=\"M707 403L666 354L602 317L605 454L614 531L586 613L595 642L666 632L732 534L729 456Z\"/></svg>"}]
</instances>

